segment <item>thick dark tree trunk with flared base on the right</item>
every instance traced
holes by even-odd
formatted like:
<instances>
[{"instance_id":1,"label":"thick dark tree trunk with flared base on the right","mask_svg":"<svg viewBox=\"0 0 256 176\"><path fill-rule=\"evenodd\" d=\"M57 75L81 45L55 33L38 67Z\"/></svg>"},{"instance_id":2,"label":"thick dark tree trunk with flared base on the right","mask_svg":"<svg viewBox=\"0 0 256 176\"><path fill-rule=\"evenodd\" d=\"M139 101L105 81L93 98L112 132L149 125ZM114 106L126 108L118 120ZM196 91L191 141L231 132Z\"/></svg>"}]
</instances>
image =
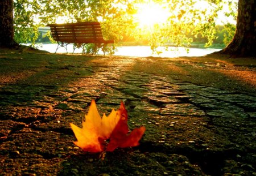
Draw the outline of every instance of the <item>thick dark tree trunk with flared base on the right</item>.
<instances>
[{"instance_id":1,"label":"thick dark tree trunk with flared base on the right","mask_svg":"<svg viewBox=\"0 0 256 176\"><path fill-rule=\"evenodd\" d=\"M255 0L239 0L237 28L233 40L217 52L238 57L256 56L256 6Z\"/></svg>"}]
</instances>

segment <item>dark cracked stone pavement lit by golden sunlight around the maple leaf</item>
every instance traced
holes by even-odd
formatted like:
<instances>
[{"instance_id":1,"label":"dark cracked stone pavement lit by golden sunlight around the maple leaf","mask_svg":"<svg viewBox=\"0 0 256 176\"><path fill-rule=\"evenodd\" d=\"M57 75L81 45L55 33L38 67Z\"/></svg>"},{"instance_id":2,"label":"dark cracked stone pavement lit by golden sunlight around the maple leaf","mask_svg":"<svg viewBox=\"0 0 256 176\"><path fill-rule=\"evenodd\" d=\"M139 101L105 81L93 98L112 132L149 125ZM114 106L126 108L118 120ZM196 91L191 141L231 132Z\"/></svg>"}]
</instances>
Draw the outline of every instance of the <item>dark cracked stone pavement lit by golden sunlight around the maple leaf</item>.
<instances>
[{"instance_id":1,"label":"dark cracked stone pavement lit by golden sunlight around the maple leaf","mask_svg":"<svg viewBox=\"0 0 256 176\"><path fill-rule=\"evenodd\" d=\"M8 58L2 65L5 63ZM17 74L11 82L2 81L0 173L68 175L60 171L67 168L71 175L108 173L98 169L83 174L81 168L64 165L81 153L72 143L75 138L69 123L81 125L90 101L95 99L100 114L108 114L125 102L130 128L146 126L141 145L131 152L140 158L143 155L145 161L136 159L137 164L129 165L140 170L143 166L139 162L145 162L147 171L137 172L141 175L147 175L148 170L152 175L189 175L195 168L199 169L194 175L256 175L256 95L218 88L210 80L196 84L189 81L190 67L215 66L150 57L70 61L60 55L56 63L49 58L42 66L22 70L26 76ZM177 77L182 74L187 78ZM164 154L168 165L153 153ZM176 163L175 156L185 159ZM95 158L85 158L94 163ZM148 158L154 158L154 164ZM113 169L109 172L117 174Z\"/></svg>"}]
</instances>

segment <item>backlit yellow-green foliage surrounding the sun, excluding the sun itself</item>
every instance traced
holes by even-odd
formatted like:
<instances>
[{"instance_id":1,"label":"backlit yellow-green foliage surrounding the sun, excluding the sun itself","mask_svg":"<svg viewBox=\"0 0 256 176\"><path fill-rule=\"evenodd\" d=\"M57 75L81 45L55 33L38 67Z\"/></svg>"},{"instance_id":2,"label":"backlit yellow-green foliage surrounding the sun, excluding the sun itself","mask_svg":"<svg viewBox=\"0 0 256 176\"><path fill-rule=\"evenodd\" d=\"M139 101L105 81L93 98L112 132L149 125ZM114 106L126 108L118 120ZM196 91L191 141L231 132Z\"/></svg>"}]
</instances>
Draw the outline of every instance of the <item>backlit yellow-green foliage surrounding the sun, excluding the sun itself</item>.
<instances>
[{"instance_id":1,"label":"backlit yellow-green foliage surrounding the sun, excluding the sun itself","mask_svg":"<svg viewBox=\"0 0 256 176\"><path fill-rule=\"evenodd\" d=\"M164 3L164 8L170 12L168 22L155 24L148 30L148 28L138 28L139 24L134 19L134 14L140 10L137 5L147 2L142 0L15 0L17 34L15 39L18 42L34 42L36 38L32 40L30 36L32 32L36 33L37 25L55 23L60 19L65 23L100 20L104 36L114 38L116 41L121 39L124 34L135 36L138 40L147 38L152 49L166 42L171 42L176 46L189 46L192 38L188 37L188 33L191 32L195 36L203 35L208 38L207 45L210 45L216 37L214 18L217 16L216 11L220 9L219 7L212 8L210 11L208 9L200 10L191 8L196 6L197 1L195 0L168 1ZM162 1L156 0L155 3L162 4ZM27 24L27 26L23 24Z\"/></svg>"}]
</instances>

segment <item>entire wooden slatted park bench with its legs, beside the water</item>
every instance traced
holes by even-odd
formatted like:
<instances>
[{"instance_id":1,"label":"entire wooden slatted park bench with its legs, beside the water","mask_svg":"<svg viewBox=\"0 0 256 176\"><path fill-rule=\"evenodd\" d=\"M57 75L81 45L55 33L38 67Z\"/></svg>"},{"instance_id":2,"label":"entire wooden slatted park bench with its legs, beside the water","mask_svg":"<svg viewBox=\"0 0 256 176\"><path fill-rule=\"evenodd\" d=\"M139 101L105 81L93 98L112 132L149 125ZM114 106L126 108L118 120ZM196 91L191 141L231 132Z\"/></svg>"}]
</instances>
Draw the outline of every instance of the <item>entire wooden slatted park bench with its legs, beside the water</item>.
<instances>
[{"instance_id":1,"label":"entire wooden slatted park bench with its legs, beside the water","mask_svg":"<svg viewBox=\"0 0 256 176\"><path fill-rule=\"evenodd\" d=\"M68 53L67 45L73 44L73 53L76 48L82 47L85 53L85 44L94 44L93 54L101 48L105 55L105 47L114 44L113 40L105 40L99 22L79 22L65 24L47 24L51 28L53 40L57 41L57 50L64 47Z\"/></svg>"}]
</instances>

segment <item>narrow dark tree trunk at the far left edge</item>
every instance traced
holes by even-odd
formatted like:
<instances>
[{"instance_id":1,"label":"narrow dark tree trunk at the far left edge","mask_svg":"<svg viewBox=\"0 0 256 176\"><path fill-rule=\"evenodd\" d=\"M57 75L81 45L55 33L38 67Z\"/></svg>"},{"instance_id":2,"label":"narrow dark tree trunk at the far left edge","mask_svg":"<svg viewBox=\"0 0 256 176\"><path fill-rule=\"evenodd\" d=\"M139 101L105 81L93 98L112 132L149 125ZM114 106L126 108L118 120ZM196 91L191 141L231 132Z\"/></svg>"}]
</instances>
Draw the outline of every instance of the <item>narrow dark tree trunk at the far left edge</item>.
<instances>
[{"instance_id":1,"label":"narrow dark tree trunk at the far left edge","mask_svg":"<svg viewBox=\"0 0 256 176\"><path fill-rule=\"evenodd\" d=\"M14 41L13 0L0 0L0 46L17 45Z\"/></svg>"}]
</instances>

